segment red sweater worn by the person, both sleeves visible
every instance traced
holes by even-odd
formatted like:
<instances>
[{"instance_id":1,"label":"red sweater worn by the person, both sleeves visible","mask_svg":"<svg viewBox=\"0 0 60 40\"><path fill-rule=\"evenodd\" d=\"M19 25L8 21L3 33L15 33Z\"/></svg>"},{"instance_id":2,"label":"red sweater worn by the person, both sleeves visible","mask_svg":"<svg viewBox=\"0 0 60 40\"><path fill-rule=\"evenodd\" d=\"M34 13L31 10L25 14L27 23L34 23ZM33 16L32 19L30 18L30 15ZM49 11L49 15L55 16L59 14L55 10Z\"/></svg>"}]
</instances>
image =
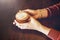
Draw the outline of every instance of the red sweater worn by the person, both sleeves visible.
<instances>
[{"instance_id":1,"label":"red sweater worn by the person, both sleeves visible","mask_svg":"<svg viewBox=\"0 0 60 40\"><path fill-rule=\"evenodd\" d=\"M60 16L60 3L50 6L49 8L47 8L47 10L49 12L49 17ZM51 29L48 37L52 40L60 40L60 31Z\"/></svg>"}]
</instances>

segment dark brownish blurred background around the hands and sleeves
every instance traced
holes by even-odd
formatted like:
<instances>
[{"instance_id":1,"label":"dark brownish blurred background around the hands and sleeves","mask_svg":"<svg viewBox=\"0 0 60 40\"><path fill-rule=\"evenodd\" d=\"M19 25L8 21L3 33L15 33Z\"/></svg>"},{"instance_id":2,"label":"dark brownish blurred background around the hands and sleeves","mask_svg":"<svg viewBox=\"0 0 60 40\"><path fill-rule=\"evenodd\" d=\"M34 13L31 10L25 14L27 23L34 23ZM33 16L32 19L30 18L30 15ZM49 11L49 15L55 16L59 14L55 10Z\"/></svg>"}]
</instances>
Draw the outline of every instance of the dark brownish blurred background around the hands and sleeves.
<instances>
[{"instance_id":1,"label":"dark brownish blurred background around the hands and sleeves","mask_svg":"<svg viewBox=\"0 0 60 40\"><path fill-rule=\"evenodd\" d=\"M41 9L60 2L59 0L0 0L0 40L50 40L44 34L21 30L12 24L18 10ZM52 21L52 22L50 22ZM56 20L57 21L57 20ZM53 27L53 19L41 19L44 25ZM57 24L58 23L58 24ZM56 24L59 26L59 22ZM55 28L55 27L54 27Z\"/></svg>"}]
</instances>

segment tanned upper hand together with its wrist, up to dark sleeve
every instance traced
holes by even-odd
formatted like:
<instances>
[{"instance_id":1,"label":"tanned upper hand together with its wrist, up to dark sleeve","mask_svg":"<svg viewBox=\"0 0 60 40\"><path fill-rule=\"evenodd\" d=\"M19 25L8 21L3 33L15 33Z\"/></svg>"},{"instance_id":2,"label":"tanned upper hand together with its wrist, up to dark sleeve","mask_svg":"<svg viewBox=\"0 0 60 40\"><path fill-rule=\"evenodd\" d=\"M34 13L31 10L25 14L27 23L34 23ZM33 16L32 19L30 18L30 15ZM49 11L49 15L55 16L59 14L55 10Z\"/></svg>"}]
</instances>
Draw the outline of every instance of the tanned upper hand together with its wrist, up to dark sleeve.
<instances>
[{"instance_id":1,"label":"tanned upper hand together with its wrist, up to dark sleeve","mask_svg":"<svg viewBox=\"0 0 60 40\"><path fill-rule=\"evenodd\" d=\"M29 13L35 19L48 17L48 10L47 9L37 9L37 10L26 9L26 10L22 10L22 11Z\"/></svg>"}]
</instances>

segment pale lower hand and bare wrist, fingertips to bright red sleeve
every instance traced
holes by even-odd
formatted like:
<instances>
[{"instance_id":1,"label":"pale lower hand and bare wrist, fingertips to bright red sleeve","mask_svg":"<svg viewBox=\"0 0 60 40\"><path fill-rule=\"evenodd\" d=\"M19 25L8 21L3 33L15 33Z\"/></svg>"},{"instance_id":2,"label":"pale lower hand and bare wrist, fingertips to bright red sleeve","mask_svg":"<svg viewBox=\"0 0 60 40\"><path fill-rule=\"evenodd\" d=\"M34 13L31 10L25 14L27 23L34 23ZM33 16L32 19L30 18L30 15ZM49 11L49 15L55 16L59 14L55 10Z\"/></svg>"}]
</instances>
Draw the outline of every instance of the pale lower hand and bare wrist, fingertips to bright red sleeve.
<instances>
[{"instance_id":1,"label":"pale lower hand and bare wrist, fingertips to bright red sleeve","mask_svg":"<svg viewBox=\"0 0 60 40\"><path fill-rule=\"evenodd\" d=\"M47 28L46 26L42 25L40 22L35 20L34 18L30 18L31 20L27 23L18 23L16 20L14 20L13 24L16 25L20 29L32 29L37 30L39 32L44 33L45 35L48 35L50 32L50 28Z\"/></svg>"}]
</instances>

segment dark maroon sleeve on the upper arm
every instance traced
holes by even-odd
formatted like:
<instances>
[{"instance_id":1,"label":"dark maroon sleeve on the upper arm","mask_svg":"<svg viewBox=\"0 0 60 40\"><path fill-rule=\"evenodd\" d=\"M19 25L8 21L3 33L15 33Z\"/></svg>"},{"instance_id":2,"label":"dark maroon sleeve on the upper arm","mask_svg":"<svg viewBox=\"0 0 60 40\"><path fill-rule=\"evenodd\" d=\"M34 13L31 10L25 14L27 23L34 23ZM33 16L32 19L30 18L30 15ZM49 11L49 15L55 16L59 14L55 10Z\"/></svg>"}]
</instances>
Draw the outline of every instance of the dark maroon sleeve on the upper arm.
<instances>
[{"instance_id":1,"label":"dark maroon sleeve on the upper arm","mask_svg":"<svg viewBox=\"0 0 60 40\"><path fill-rule=\"evenodd\" d=\"M60 3L46 8L48 10L48 16L60 16Z\"/></svg>"}]
</instances>

